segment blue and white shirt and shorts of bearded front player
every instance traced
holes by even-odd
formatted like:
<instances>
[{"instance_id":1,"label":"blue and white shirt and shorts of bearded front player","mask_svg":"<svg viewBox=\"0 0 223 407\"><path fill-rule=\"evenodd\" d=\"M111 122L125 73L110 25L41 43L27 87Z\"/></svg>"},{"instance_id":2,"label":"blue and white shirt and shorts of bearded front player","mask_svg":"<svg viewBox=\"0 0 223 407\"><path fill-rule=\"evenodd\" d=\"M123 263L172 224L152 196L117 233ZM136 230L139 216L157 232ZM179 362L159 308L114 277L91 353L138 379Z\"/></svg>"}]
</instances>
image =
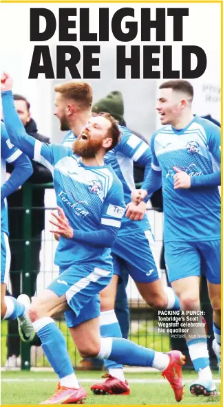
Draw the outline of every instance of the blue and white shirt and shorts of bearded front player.
<instances>
[{"instance_id":1,"label":"blue and white shirt and shorts of bearded front player","mask_svg":"<svg viewBox=\"0 0 223 407\"><path fill-rule=\"evenodd\" d=\"M90 300L92 307L87 307L85 320L99 316L98 292L111 279L111 244L125 213L122 184L111 166L85 166L71 148L30 137L10 91L3 92L3 111L11 142L51 171L57 205L74 230L72 239L59 240L54 262L60 274L47 288L58 296L65 294L76 317L83 316L83 307ZM73 319L74 313L70 313ZM69 313L66 317L67 325L72 326Z\"/></svg>"}]
</instances>

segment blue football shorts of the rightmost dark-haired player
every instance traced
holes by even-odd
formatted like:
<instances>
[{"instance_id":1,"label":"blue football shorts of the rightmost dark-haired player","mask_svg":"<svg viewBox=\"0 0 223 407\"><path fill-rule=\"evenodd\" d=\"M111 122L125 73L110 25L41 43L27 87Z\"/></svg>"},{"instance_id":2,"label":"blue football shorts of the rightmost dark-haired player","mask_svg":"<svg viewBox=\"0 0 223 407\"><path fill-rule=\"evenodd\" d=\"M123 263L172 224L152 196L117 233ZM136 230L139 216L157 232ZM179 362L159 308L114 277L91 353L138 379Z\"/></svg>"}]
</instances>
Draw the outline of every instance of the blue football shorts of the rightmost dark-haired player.
<instances>
[{"instance_id":1,"label":"blue football shorts of the rightmost dark-haired player","mask_svg":"<svg viewBox=\"0 0 223 407\"><path fill-rule=\"evenodd\" d=\"M164 243L169 282L204 274L207 281L220 284L220 239Z\"/></svg>"}]
</instances>

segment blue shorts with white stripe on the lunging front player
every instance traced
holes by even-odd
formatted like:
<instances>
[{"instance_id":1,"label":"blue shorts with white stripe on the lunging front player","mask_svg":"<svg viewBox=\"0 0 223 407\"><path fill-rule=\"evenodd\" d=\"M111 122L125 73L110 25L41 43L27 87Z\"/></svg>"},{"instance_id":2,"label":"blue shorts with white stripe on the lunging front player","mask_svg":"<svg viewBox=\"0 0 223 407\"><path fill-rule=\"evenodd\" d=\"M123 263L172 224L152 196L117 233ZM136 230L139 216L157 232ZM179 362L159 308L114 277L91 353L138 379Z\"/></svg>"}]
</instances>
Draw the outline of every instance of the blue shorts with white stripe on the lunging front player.
<instances>
[{"instance_id":1,"label":"blue shorts with white stripe on the lunging front player","mask_svg":"<svg viewBox=\"0 0 223 407\"><path fill-rule=\"evenodd\" d=\"M74 327L100 315L98 293L111 281L111 271L90 265L72 265L61 269L47 289L57 296L65 294L69 309L65 311L67 327Z\"/></svg>"}]
</instances>

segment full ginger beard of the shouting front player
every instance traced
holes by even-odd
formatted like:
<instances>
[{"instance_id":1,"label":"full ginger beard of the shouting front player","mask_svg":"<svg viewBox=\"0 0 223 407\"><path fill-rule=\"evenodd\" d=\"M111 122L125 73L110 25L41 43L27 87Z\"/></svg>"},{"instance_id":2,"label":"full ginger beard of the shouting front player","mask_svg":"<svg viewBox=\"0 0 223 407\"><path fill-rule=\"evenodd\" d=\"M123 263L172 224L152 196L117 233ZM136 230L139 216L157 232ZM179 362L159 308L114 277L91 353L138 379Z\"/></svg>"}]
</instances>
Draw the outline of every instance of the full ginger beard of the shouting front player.
<instances>
[{"instance_id":1,"label":"full ginger beard of the shouting front player","mask_svg":"<svg viewBox=\"0 0 223 407\"><path fill-rule=\"evenodd\" d=\"M94 158L101 148L102 140L93 141L90 139L89 135L87 135L88 140L83 140L81 136L82 134L78 136L76 142L73 144L74 154L83 158Z\"/></svg>"}]
</instances>

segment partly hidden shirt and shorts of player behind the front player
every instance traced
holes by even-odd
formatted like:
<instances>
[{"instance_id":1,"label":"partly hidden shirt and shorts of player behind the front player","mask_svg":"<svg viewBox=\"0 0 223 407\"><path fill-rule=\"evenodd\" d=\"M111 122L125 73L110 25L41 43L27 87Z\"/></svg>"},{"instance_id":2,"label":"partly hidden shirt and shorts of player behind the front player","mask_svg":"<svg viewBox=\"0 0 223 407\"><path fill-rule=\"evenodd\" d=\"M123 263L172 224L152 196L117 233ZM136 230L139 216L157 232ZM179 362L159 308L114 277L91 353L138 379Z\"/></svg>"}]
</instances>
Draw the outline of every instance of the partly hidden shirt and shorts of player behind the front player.
<instances>
[{"instance_id":1,"label":"partly hidden shirt and shorts of player behind the front player","mask_svg":"<svg viewBox=\"0 0 223 407\"><path fill-rule=\"evenodd\" d=\"M122 182L127 204L131 201L131 192L135 189L133 163L135 161L145 166L146 177L151 168L151 149L126 127L119 126L119 129L120 142L105 155L104 160L106 164L111 165ZM69 146L75 140L76 136L70 131L65 136L63 145ZM155 261L154 249L155 243L147 215L145 214L142 221L131 221L123 217L120 230L111 248L114 274L121 276L124 261L125 268L134 281L151 283L158 280L158 263Z\"/></svg>"}]
</instances>

